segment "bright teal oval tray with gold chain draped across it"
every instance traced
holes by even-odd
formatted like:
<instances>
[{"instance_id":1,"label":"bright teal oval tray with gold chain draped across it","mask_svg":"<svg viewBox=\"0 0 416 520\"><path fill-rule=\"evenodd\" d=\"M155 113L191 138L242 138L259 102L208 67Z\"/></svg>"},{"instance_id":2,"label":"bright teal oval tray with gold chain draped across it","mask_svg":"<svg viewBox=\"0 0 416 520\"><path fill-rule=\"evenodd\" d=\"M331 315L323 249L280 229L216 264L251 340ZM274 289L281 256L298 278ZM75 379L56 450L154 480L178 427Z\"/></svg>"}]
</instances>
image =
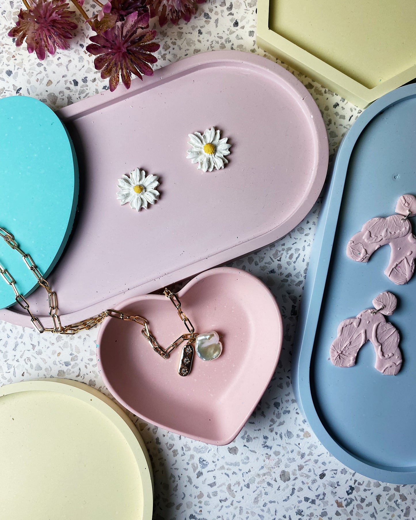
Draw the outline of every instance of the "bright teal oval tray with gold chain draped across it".
<instances>
[{"instance_id":1,"label":"bright teal oval tray with gold chain draped across it","mask_svg":"<svg viewBox=\"0 0 416 520\"><path fill-rule=\"evenodd\" d=\"M42 275L58 261L72 230L78 168L71 139L58 116L25 96L0 99L0 227L14 235ZM21 255L0 240L0 264L27 296L36 278ZM16 303L0 278L0 308Z\"/></svg>"}]
</instances>

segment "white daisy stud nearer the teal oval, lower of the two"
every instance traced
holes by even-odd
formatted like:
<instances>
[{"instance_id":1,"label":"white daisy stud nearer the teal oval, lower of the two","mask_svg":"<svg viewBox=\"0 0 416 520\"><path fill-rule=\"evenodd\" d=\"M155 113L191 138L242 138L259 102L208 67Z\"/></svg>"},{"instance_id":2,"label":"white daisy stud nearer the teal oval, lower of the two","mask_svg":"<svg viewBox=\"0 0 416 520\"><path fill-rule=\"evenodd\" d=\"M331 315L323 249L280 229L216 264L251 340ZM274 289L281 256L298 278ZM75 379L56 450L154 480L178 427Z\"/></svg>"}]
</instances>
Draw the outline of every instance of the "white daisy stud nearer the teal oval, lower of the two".
<instances>
[{"instance_id":1,"label":"white daisy stud nearer the teal oval, lower of the two","mask_svg":"<svg viewBox=\"0 0 416 520\"><path fill-rule=\"evenodd\" d=\"M144 170L136 168L130 172L130 176L123 175L118 180L117 198L121 204L130 203L133 210L139 211L142 207L147 208L147 204L154 204L159 199L159 186L157 175L148 175Z\"/></svg>"}]
</instances>

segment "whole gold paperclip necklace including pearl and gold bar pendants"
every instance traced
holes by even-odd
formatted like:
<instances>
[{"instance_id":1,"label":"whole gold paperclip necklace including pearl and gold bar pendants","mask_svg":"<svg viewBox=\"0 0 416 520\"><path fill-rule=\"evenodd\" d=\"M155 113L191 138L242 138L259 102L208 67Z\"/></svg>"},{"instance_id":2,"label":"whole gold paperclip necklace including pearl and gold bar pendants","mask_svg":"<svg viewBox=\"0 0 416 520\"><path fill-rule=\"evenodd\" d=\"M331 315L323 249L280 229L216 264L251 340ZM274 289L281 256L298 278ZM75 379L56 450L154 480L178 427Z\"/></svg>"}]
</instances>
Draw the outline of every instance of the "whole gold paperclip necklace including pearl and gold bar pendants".
<instances>
[{"instance_id":1,"label":"whole gold paperclip necklace including pearl and gold bar pendants","mask_svg":"<svg viewBox=\"0 0 416 520\"><path fill-rule=\"evenodd\" d=\"M27 313L30 316L30 320L33 323L33 326L39 333L43 332L53 332L55 334L69 334L73 335L81 330L89 330L98 325L98 323L101 323L101 321L107 317L109 318L118 318L125 321L135 321L136 323L139 323L143 328L141 330L141 333L146 337L147 341L150 343L151 347L153 348L154 352L157 352L160 356L162 356L163 359L167 359L169 357L169 354L172 352L174 348L179 346L181 343L186 342L186 345L182 349L182 354L180 356L179 361L179 368L178 372L180 375L188 375L191 370L192 365L192 359L193 359L193 353L194 353L194 344L197 343L197 353L198 355L204 359L204 360L210 360L215 359L218 357L222 352L222 344L219 342L219 339L217 339L217 343L215 343L215 338L218 338L218 334L216 332L207 332L205 334L197 334L195 332L195 328L193 327L190 319L184 314L184 311L181 308L181 303L178 298L178 296L170 291L169 289L165 288L163 291L163 294L171 300L173 305L176 307L176 310L178 311L179 318L184 322L185 327L187 328L188 332L186 334L182 334L178 337L177 340L175 340L173 343L171 343L167 348L163 348L159 345L158 341L155 339L155 337L152 335L152 333L149 330L148 327L148 320L146 318L142 318L141 316L131 316L128 314L124 314L120 312L119 310L114 309L107 309L102 311L102 313L93 316L92 318L88 318L86 320L77 321L75 323L71 323L70 325L62 325L61 320L58 314L58 298L56 293L50 289L48 282L43 278L41 272L38 270L36 264L33 262L32 257L28 254L22 251L19 248L19 244L16 242L15 237L11 235L6 229L0 227L0 236L4 238L6 243L10 246L11 249L14 249L17 251L23 258L23 262L27 265L27 267L33 272L33 275L35 276L37 283L43 287L46 292L48 293L48 301L49 301L49 316L51 317L53 327L47 328L44 327L41 321L32 314L32 311L30 310L30 306L28 301L24 298L22 294L17 290L16 288L16 281L14 278L10 275L10 273L5 269L2 264L0 263L0 275L3 277L3 279L8 283L11 288L15 292L15 299L16 302L20 305L20 307L27 311ZM212 335L214 335L214 343L212 342ZM210 336L210 337L208 337ZM208 339L207 339L208 337ZM209 345L218 345L215 349L216 355L215 357L207 357L205 354L201 355L198 350L198 344L201 344L201 352L204 350L207 351L206 342L211 342ZM218 354L219 352L219 354Z\"/></svg>"}]
</instances>

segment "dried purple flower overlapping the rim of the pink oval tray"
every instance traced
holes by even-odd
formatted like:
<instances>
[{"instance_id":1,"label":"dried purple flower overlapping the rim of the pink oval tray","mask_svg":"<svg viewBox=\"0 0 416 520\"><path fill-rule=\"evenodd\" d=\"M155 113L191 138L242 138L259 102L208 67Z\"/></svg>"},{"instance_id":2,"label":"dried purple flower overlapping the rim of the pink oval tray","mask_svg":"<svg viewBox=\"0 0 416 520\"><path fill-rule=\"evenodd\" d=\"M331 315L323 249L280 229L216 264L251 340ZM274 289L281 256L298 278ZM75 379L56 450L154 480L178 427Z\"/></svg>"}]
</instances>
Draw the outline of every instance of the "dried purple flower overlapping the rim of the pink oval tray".
<instances>
[{"instance_id":1,"label":"dried purple flower overlapping the rim of the pink oval tray","mask_svg":"<svg viewBox=\"0 0 416 520\"><path fill-rule=\"evenodd\" d=\"M110 78L111 92L119 85L120 74L126 88L130 87L132 74L140 79L142 74L153 75L149 63L155 63L158 59L151 53L157 51L160 45L152 42L156 31L143 30L148 23L148 13L139 17L135 11L113 28L89 38L94 43L87 45L86 50L97 56L95 68L101 70L102 78Z\"/></svg>"}]
</instances>

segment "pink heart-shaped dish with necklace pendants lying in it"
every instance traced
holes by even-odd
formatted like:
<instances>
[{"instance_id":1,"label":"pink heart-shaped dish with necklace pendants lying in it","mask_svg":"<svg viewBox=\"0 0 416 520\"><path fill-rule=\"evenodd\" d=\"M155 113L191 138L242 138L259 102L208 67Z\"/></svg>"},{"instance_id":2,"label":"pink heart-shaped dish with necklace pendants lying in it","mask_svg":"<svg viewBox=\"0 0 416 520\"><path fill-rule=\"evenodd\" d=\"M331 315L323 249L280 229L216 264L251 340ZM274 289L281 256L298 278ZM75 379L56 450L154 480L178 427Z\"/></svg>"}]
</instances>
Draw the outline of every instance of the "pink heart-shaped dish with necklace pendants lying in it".
<instances>
[{"instance_id":1,"label":"pink heart-shaped dish with necklace pendants lying in it","mask_svg":"<svg viewBox=\"0 0 416 520\"><path fill-rule=\"evenodd\" d=\"M198 333L214 330L222 336L218 359L194 356L183 378L181 347L163 359L137 323L107 318L98 334L98 367L112 395L145 421L205 443L229 444L275 371L283 337L279 307L261 281L231 267L205 271L178 296ZM130 298L118 310L145 317L164 347L186 332L163 295Z\"/></svg>"}]
</instances>

